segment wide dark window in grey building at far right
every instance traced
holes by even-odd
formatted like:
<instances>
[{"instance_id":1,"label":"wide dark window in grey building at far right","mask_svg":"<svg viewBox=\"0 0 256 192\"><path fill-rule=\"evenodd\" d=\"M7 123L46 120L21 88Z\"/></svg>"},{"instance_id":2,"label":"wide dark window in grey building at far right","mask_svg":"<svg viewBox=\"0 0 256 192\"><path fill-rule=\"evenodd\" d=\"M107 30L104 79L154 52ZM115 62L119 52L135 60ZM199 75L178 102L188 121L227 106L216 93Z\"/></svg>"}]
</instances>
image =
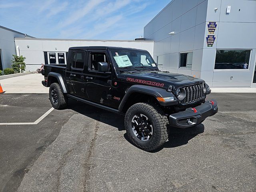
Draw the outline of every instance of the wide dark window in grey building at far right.
<instances>
[{"instance_id":1,"label":"wide dark window in grey building at far right","mask_svg":"<svg viewBox=\"0 0 256 192\"><path fill-rule=\"evenodd\" d=\"M251 50L216 50L214 69L248 69Z\"/></svg>"}]
</instances>

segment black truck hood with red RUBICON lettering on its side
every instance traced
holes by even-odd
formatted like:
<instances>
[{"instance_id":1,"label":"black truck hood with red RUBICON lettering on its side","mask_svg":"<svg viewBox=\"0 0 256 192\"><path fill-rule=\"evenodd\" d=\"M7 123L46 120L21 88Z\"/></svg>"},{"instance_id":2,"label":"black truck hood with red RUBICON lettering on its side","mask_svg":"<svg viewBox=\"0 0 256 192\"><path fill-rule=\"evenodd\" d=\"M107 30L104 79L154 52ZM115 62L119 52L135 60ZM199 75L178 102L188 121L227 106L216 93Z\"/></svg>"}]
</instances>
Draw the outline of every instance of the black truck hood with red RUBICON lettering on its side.
<instances>
[{"instance_id":1,"label":"black truck hood with red RUBICON lettering on its side","mask_svg":"<svg viewBox=\"0 0 256 192\"><path fill-rule=\"evenodd\" d=\"M123 72L118 74L118 77L122 78L124 81L134 82L135 84L147 84L162 88L168 88L170 85L178 87L204 82L204 80L192 76L161 71Z\"/></svg>"}]
</instances>

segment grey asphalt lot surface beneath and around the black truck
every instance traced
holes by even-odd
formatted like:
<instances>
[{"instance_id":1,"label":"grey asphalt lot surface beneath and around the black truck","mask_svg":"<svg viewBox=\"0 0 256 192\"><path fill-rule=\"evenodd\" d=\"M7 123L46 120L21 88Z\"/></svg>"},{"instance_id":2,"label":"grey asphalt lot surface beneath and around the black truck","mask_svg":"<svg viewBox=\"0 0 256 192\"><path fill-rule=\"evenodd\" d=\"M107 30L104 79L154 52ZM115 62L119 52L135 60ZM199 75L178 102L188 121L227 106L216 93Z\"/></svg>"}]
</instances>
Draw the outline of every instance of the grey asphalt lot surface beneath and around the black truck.
<instances>
[{"instance_id":1,"label":"grey asphalt lot surface beneath and around the black truck","mask_svg":"<svg viewBox=\"0 0 256 192\"><path fill-rule=\"evenodd\" d=\"M219 112L155 152L124 117L69 100L37 125L0 125L0 191L256 191L256 94L212 93ZM0 95L0 122L34 122L48 94Z\"/></svg>"}]
</instances>

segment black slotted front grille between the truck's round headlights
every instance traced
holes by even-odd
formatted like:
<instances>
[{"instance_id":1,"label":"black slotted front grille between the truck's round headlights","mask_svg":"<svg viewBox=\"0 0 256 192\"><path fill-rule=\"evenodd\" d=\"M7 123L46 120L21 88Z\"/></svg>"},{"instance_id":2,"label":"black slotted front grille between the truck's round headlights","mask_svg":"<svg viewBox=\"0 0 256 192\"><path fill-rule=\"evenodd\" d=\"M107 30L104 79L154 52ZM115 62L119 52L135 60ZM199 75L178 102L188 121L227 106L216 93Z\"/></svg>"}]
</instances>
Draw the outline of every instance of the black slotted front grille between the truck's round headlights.
<instances>
[{"instance_id":1,"label":"black slotted front grille between the truck's round headlights","mask_svg":"<svg viewBox=\"0 0 256 192\"><path fill-rule=\"evenodd\" d=\"M193 86L188 86L183 88L186 92L185 98L181 101L181 103L183 104L196 102L197 100L205 98L203 84L198 84L198 85L193 85Z\"/></svg>"}]
</instances>

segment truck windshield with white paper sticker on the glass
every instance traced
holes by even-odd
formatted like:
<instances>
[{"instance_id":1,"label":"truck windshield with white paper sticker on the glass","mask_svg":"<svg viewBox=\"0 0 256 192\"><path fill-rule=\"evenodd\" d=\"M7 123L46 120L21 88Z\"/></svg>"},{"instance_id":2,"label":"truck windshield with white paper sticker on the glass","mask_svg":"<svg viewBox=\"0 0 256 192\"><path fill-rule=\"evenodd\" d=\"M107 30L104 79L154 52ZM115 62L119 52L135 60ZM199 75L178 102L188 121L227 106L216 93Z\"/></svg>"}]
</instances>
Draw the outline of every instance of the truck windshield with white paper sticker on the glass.
<instances>
[{"instance_id":1,"label":"truck windshield with white paper sticker on the glass","mask_svg":"<svg viewBox=\"0 0 256 192\"><path fill-rule=\"evenodd\" d=\"M118 68L150 68L156 69L156 63L148 52L136 50L112 50L112 57Z\"/></svg>"}]
</instances>

